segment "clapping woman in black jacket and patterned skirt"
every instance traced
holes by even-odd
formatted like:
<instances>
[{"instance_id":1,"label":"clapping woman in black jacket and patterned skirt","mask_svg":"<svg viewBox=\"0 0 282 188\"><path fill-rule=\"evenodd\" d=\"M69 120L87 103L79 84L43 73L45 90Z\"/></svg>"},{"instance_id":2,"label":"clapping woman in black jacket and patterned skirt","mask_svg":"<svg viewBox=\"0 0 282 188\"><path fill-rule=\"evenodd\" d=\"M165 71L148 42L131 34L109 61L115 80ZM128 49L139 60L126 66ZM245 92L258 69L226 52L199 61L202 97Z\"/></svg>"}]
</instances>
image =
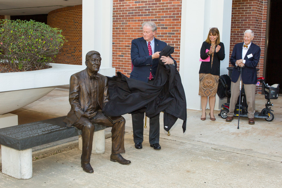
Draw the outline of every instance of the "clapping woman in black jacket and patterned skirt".
<instances>
[{"instance_id":1,"label":"clapping woman in black jacket and patterned skirt","mask_svg":"<svg viewBox=\"0 0 282 188\"><path fill-rule=\"evenodd\" d=\"M225 57L224 44L220 42L217 28L210 28L207 39L202 44L200 56L203 60L199 71L199 95L201 96L202 107L201 120L206 120L206 105L209 101L210 118L212 121L215 121L213 109L220 74L220 61L224 60ZM210 60L207 61L207 58Z\"/></svg>"}]
</instances>

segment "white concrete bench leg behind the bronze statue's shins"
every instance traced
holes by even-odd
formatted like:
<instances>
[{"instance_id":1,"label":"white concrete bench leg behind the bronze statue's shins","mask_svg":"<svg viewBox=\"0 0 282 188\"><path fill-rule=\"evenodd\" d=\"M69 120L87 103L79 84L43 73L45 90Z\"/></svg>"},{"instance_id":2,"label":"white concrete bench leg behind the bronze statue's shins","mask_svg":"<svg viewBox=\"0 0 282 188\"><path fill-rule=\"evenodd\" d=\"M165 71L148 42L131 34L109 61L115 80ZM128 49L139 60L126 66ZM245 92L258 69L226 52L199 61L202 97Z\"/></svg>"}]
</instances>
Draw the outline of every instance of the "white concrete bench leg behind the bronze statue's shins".
<instances>
[{"instance_id":1,"label":"white concrete bench leg behind the bronze statue's shins","mask_svg":"<svg viewBox=\"0 0 282 188\"><path fill-rule=\"evenodd\" d=\"M78 148L82 150L82 137L79 135ZM94 132L92 143L92 154L104 154L105 153L105 129Z\"/></svg>"}]
</instances>

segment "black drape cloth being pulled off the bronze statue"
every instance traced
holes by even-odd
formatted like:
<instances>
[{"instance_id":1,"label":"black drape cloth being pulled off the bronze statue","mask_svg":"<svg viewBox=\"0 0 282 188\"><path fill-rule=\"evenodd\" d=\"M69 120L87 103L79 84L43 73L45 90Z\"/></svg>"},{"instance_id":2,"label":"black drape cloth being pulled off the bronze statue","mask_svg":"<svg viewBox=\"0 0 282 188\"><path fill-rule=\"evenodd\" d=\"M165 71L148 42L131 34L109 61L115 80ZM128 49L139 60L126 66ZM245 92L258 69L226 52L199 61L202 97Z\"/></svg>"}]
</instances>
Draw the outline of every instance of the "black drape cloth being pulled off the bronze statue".
<instances>
[{"instance_id":1,"label":"black drape cloth being pulled off the bronze statue","mask_svg":"<svg viewBox=\"0 0 282 188\"><path fill-rule=\"evenodd\" d=\"M128 78L120 72L108 77L110 101L104 108L106 116L121 116L126 113L146 112L151 118L164 112L164 129L169 131L177 118L183 120L186 130L186 98L180 74L174 65L164 65L161 56L174 52L166 46L159 53L159 65L152 84Z\"/></svg>"}]
</instances>

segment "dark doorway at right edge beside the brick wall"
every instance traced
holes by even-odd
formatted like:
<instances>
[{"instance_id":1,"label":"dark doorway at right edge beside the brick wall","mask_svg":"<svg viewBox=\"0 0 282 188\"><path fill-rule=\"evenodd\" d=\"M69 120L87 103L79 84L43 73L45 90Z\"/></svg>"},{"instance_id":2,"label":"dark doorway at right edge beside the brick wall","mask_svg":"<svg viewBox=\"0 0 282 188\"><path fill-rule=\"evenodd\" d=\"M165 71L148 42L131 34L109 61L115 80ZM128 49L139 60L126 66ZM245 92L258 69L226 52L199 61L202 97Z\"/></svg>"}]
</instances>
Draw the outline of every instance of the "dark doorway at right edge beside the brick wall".
<instances>
[{"instance_id":1,"label":"dark doorway at right edge beside the brick wall","mask_svg":"<svg viewBox=\"0 0 282 188\"><path fill-rule=\"evenodd\" d=\"M282 0L270 0L269 12L269 36L266 56L266 83L270 86L280 84L279 93L282 93L282 19L281 19Z\"/></svg>"}]
</instances>

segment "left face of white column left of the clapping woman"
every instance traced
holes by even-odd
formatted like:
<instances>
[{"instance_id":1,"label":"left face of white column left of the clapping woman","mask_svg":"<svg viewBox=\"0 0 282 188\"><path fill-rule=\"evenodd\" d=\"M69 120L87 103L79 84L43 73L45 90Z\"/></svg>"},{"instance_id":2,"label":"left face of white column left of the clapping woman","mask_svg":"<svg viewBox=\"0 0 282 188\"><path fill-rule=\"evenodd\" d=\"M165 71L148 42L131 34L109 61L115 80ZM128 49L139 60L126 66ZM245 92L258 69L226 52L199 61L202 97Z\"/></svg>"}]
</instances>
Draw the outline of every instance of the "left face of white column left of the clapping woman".
<instances>
[{"instance_id":1,"label":"left face of white column left of the clapping woman","mask_svg":"<svg viewBox=\"0 0 282 188\"><path fill-rule=\"evenodd\" d=\"M185 90L187 108L200 110L200 49L204 34L204 0L182 1L180 76Z\"/></svg>"}]
</instances>

